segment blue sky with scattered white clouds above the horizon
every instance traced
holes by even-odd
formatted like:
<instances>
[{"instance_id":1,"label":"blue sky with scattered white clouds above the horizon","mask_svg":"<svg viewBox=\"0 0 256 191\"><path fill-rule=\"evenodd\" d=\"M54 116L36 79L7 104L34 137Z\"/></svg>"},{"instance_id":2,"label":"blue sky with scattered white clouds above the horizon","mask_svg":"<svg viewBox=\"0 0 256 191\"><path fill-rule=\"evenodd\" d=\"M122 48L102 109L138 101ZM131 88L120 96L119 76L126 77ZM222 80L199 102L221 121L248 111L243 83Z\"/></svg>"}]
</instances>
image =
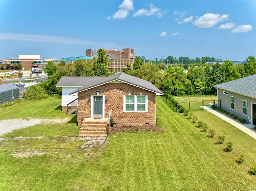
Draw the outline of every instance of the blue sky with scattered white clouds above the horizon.
<instances>
[{"instance_id":1,"label":"blue sky with scattered white clouds above the horizon","mask_svg":"<svg viewBox=\"0 0 256 191\"><path fill-rule=\"evenodd\" d=\"M99 48L244 61L256 56L256 0L0 0L0 59Z\"/></svg>"}]
</instances>

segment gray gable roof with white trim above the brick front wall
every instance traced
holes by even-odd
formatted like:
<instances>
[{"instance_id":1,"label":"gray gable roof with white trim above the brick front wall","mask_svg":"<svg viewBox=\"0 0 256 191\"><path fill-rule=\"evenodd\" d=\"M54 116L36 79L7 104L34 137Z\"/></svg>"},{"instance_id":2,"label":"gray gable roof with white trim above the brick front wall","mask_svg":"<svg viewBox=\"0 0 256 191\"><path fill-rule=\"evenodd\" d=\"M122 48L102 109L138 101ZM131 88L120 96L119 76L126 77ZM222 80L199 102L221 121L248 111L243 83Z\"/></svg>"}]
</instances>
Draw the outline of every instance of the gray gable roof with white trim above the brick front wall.
<instances>
[{"instance_id":1,"label":"gray gable roof with white trim above the brick front wall","mask_svg":"<svg viewBox=\"0 0 256 191\"><path fill-rule=\"evenodd\" d=\"M88 83L86 85L84 85L83 87L77 89L76 91L73 91L70 93L74 94L74 93L79 93L106 83L110 83L113 81L120 81L123 83L127 83L142 89L146 89L148 91L154 92L156 93L156 95L164 95L164 93L162 93L162 91L160 91L157 87L155 87L151 82L125 74L125 73L118 73L109 77L103 77L102 79L98 80L98 81L94 81L91 83Z\"/></svg>"}]
</instances>

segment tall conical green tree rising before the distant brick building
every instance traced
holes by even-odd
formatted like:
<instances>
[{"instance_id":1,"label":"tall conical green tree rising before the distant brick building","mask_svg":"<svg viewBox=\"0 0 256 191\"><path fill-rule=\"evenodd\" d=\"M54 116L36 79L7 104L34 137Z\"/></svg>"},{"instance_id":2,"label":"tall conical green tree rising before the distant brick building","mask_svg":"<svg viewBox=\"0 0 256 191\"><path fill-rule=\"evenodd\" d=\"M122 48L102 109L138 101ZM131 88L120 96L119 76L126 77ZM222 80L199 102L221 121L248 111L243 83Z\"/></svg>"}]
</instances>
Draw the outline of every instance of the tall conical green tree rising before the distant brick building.
<instances>
[{"instance_id":1,"label":"tall conical green tree rising before the distant brick building","mask_svg":"<svg viewBox=\"0 0 256 191\"><path fill-rule=\"evenodd\" d=\"M109 76L108 67L110 65L108 62L108 56L104 49L98 49L97 51L98 57L97 59L94 58L94 65L93 65L93 73L94 76Z\"/></svg>"}]
</instances>

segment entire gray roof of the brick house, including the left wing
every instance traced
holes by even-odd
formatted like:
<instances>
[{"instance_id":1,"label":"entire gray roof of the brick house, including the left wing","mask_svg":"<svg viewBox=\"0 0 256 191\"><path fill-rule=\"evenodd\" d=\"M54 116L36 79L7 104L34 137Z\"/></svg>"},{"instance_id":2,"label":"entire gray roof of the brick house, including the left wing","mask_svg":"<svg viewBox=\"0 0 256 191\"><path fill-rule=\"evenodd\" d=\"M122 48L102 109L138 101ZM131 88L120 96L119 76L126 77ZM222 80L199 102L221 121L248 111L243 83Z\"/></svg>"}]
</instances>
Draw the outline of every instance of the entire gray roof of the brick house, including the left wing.
<instances>
[{"instance_id":1,"label":"entire gray roof of the brick house, including the left wing","mask_svg":"<svg viewBox=\"0 0 256 191\"><path fill-rule=\"evenodd\" d=\"M151 82L125 74L125 73L118 73L109 77L62 77L62 78L64 79L60 79L60 81L56 84L56 87L68 87L68 86L79 87L83 85L83 87L80 87L79 89L77 89L76 91L73 91L70 94L85 91L93 87L97 87L102 84L106 84L115 80L128 83L130 85L134 85L142 89L152 91L154 93L158 93L159 95L164 94L157 87L155 87Z\"/></svg>"}]
</instances>

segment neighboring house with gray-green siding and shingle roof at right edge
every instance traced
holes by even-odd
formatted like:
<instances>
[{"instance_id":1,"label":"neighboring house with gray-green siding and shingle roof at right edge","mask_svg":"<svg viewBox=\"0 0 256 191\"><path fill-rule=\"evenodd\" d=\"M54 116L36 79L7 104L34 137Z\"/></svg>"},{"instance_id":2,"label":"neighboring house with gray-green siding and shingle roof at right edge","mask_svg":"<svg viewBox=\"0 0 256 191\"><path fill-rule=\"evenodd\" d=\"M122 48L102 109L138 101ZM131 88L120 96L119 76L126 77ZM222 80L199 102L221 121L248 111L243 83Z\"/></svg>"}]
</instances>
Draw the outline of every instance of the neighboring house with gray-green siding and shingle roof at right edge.
<instances>
[{"instance_id":1,"label":"neighboring house with gray-green siding and shingle roof at right edge","mask_svg":"<svg viewBox=\"0 0 256 191\"><path fill-rule=\"evenodd\" d=\"M221 108L256 125L256 74L214 87Z\"/></svg>"}]
</instances>

